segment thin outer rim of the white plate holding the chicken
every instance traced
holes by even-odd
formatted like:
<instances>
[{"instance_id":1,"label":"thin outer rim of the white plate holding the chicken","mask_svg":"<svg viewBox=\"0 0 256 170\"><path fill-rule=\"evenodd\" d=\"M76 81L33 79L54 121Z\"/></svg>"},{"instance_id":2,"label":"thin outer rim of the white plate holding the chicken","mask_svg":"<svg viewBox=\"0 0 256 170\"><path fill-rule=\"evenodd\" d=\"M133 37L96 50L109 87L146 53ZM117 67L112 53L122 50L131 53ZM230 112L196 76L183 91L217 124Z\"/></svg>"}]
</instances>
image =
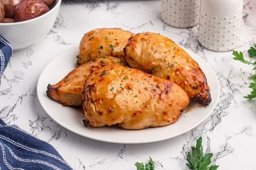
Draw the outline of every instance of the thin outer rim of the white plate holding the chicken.
<instances>
[{"instance_id":1,"label":"thin outer rim of the white plate holding the chicken","mask_svg":"<svg viewBox=\"0 0 256 170\"><path fill-rule=\"evenodd\" d=\"M177 133L173 136L169 136L169 137L163 137L163 138L158 138L158 139L154 139L154 140L146 140L146 141L142 141L142 142L118 142L116 140L111 140L111 138L109 138L108 140L105 140L105 139L98 139L98 138L95 138L93 136L87 136L86 133L80 133L80 132L77 132L71 128L69 128L67 125L61 123L58 121L58 119L55 119L54 117L52 117L48 112L47 112L47 109L45 108L44 105L42 105L42 98L41 98L41 94L39 93L38 91L38 87L40 86L40 82L41 82L41 77L43 76L43 73L44 71L46 70L46 68L48 67L48 65L53 62L53 60L57 59L57 58L60 58L62 55L64 55L67 51L71 51L71 50L74 50L74 48L78 48L79 45L73 45L72 47L60 52L59 54L57 54L51 61L49 61L47 63L47 65L44 67L44 69L42 70L40 76L38 77L38 82L37 82L37 86L36 86L36 90L37 90L37 96L38 96L38 100L39 100L39 103L41 105L41 107L44 109L44 111L47 113L47 115L53 120L55 121L56 123L58 123L58 125L61 125L62 127L64 127L65 129L73 132L73 133L76 133L80 136L83 136L83 137L86 137L86 138L89 138L89 139L93 139L93 140L97 140L97 141L102 141L102 142L109 142L109 143L118 143L118 144L143 144L143 143L151 143L151 142L159 142L159 141L164 141L164 140L167 140L167 139L171 139L171 138L174 138L176 136L180 136L181 134L183 133L186 133L188 132L189 130L192 130L193 128L197 127L198 125L200 125L202 122L204 122L211 114L212 114L212 111L215 109L217 103L218 103L218 100L219 100L219 95L220 95L220 84L219 84L219 81L218 81L218 77L215 73L215 71L212 69L212 67L202 58L200 57L198 54L196 54L195 52L185 48L185 47L182 47L180 46L181 48L183 48L187 53L194 53L195 55L197 55L197 57L201 58L202 60L204 60L204 62L207 64L207 67L210 69L210 71L212 73L214 73L214 78L217 80L217 85L218 85L218 96L217 96L217 99L216 99L216 102L214 103L214 106L212 107L212 109L209 111L209 113L204 117L204 119L201 119L201 121L199 121L198 123L196 123L195 125L193 125L192 127L189 127L188 129L186 130L183 130L182 132L180 133ZM193 58L193 57L192 57ZM197 62L197 61L195 61ZM39 97L40 96L40 97ZM168 125L169 126L169 125ZM157 127L156 127L157 128Z\"/></svg>"}]
</instances>

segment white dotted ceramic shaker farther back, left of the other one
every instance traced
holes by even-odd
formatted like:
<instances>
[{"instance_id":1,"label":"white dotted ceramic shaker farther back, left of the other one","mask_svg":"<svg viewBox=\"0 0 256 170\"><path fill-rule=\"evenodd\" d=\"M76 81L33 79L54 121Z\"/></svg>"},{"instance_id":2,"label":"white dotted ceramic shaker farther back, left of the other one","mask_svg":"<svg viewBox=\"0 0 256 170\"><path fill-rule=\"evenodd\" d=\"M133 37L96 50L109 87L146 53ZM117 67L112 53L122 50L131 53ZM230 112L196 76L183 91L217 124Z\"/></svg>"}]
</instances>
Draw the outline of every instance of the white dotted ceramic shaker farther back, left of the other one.
<instances>
[{"instance_id":1,"label":"white dotted ceramic shaker farther back, left of the other one","mask_svg":"<svg viewBox=\"0 0 256 170\"><path fill-rule=\"evenodd\" d=\"M169 26L188 28L198 24L200 0L162 0L161 17Z\"/></svg>"}]
</instances>

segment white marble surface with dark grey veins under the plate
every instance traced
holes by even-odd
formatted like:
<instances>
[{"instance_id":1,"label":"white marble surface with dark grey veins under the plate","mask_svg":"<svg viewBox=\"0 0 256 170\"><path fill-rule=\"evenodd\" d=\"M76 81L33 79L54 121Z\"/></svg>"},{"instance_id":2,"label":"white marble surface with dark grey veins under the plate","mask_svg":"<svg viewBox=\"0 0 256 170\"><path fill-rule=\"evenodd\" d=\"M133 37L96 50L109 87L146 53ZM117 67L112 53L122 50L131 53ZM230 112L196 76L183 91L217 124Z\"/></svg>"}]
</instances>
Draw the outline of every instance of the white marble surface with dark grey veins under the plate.
<instances>
[{"instance_id":1,"label":"white marble surface with dark grey veins under the plate","mask_svg":"<svg viewBox=\"0 0 256 170\"><path fill-rule=\"evenodd\" d=\"M255 11L256 2L244 0L239 51L247 51L256 42ZM211 116L183 135L148 144L99 142L55 123L38 102L38 77L48 62L78 44L85 32L102 27L157 32L204 58L221 85L220 99ZM234 61L231 51L208 51L198 44L197 37L197 27L178 29L164 24L160 19L160 0L64 0L47 37L13 54L0 86L0 118L52 144L75 170L135 170L134 163L148 161L149 156L156 161L157 169L185 170L186 152L198 136L203 136L204 149L214 154L213 162L219 170L256 169L256 100L242 97L250 92L248 77L252 67Z\"/></svg>"}]
</instances>

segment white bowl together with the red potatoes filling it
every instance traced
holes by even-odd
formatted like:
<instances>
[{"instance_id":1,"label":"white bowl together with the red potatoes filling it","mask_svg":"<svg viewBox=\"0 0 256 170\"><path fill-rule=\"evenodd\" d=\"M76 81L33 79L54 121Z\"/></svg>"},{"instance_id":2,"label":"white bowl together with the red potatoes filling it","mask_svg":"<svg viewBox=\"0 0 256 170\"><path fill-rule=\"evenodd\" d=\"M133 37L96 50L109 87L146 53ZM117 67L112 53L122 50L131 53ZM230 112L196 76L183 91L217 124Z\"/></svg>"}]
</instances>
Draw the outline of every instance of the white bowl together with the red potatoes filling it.
<instances>
[{"instance_id":1,"label":"white bowl together with the red potatoes filling it","mask_svg":"<svg viewBox=\"0 0 256 170\"><path fill-rule=\"evenodd\" d=\"M0 35L19 51L51 30L61 0L0 0Z\"/></svg>"}]
</instances>

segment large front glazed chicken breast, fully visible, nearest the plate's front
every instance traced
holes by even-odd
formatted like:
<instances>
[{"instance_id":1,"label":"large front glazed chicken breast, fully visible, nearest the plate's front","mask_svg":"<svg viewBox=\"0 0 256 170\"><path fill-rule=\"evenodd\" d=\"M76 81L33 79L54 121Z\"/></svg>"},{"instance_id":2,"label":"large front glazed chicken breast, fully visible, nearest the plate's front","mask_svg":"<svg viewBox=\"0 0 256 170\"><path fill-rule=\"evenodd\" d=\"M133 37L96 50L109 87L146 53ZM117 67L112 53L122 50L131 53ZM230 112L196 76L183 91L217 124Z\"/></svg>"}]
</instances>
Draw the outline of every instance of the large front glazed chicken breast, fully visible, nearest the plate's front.
<instances>
[{"instance_id":1,"label":"large front glazed chicken breast, fully visible, nearest the plate's front","mask_svg":"<svg viewBox=\"0 0 256 170\"><path fill-rule=\"evenodd\" d=\"M87 77L85 120L92 127L118 124L125 129L169 125L189 97L176 83L121 65L106 65Z\"/></svg>"}]
</instances>

